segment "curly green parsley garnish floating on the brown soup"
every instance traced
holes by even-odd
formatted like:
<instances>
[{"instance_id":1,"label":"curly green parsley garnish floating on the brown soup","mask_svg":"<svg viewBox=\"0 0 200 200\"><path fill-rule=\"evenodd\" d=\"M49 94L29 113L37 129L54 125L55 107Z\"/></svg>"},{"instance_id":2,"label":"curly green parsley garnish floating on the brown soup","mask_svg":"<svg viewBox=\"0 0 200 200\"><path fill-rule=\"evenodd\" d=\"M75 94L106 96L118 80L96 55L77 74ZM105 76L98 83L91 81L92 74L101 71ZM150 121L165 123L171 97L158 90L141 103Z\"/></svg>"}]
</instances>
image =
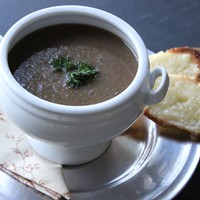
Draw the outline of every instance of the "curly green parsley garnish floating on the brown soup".
<instances>
[{"instance_id":1,"label":"curly green parsley garnish floating on the brown soup","mask_svg":"<svg viewBox=\"0 0 200 200\"><path fill-rule=\"evenodd\" d=\"M67 86L79 87L97 77L99 71L88 62L73 61L70 57L60 56L50 63L55 70L65 71L68 75Z\"/></svg>"}]
</instances>

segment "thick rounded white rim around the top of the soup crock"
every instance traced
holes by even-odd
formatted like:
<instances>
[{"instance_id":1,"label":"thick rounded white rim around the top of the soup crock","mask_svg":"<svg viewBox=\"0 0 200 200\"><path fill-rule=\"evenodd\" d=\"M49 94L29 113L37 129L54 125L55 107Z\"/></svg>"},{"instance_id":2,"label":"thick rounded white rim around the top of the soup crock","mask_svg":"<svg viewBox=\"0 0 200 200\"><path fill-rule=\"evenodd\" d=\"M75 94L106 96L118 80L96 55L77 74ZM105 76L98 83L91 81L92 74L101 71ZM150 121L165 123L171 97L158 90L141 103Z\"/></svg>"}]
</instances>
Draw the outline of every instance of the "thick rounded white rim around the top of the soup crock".
<instances>
[{"instance_id":1,"label":"thick rounded white rim around the top of the soup crock","mask_svg":"<svg viewBox=\"0 0 200 200\"><path fill-rule=\"evenodd\" d=\"M13 77L9 65L8 65L8 53L11 48L14 38L21 33L30 24L36 23L41 19L45 19L52 16L59 16L62 14L74 14L74 15L86 15L93 18L98 18L105 23L112 24L114 27L117 27L118 30L122 31L126 37L128 37L131 42L134 44L136 58L138 60L138 69L137 73L131 82L131 84L117 96L91 105L62 105L52 103L46 100L43 100L30 92L24 89ZM59 24L59 22L58 22ZM43 26L45 27L45 26ZM37 29L36 29L37 30ZM22 19L16 22L5 34L1 42L1 76L3 76L4 81L10 87L13 93L18 96L18 98L23 99L23 101L28 102L32 106L35 106L42 110L48 110L54 113L69 113L69 114L92 114L97 112L109 111L110 109L115 109L121 105L127 103L133 99L134 94L141 88L141 85L144 84L144 81L147 77L149 71L149 61L147 49L144 45L143 40L139 34L125 21L118 18L117 16L108 13L106 11L86 7L86 6L56 6L49 7L42 10L35 11ZM145 88L143 88L145 90ZM143 99L141 99L143 101Z\"/></svg>"}]
</instances>

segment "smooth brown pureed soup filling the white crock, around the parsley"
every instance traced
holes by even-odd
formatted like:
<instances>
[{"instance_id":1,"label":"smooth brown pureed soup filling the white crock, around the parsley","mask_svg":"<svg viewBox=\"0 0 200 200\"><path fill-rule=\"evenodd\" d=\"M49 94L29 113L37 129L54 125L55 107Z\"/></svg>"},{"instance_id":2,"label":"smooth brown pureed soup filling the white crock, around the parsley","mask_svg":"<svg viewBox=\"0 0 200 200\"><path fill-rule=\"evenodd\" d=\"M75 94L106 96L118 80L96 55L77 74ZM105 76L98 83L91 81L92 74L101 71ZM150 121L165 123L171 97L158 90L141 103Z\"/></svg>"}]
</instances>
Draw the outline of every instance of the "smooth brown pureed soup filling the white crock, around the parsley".
<instances>
[{"instance_id":1,"label":"smooth brown pureed soup filling the white crock, around the parsley","mask_svg":"<svg viewBox=\"0 0 200 200\"><path fill-rule=\"evenodd\" d=\"M98 77L83 86L68 87L66 74L50 64L61 55L91 63ZM50 26L29 34L11 49L8 60L22 87L65 105L96 104L118 95L132 82L138 67L134 53L117 36L78 24Z\"/></svg>"}]
</instances>

